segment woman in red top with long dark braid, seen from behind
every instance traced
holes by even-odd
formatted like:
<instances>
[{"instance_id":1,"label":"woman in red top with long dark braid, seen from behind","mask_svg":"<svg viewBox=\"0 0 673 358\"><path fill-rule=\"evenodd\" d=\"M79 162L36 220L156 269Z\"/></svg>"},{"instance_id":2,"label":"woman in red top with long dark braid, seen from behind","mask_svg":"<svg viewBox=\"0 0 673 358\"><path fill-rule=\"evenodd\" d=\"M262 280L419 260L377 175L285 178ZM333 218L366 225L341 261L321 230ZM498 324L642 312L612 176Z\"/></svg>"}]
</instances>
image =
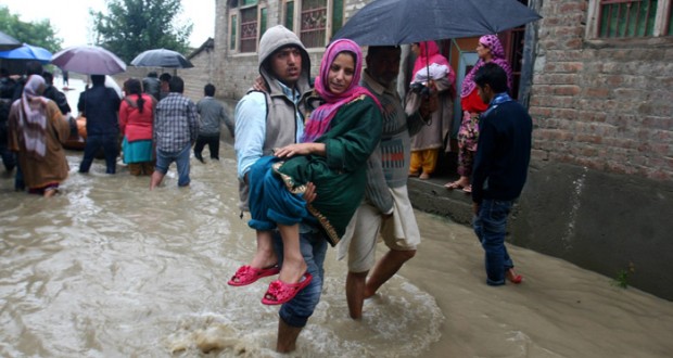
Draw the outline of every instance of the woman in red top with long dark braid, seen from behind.
<instances>
[{"instance_id":1,"label":"woman in red top with long dark braid, seen from behind","mask_svg":"<svg viewBox=\"0 0 673 358\"><path fill-rule=\"evenodd\" d=\"M154 120L154 99L142 93L140 80L129 78L124 82L126 98L119 106L119 129L124 135L122 150L124 163L128 164L132 176L152 175L152 123Z\"/></svg>"}]
</instances>

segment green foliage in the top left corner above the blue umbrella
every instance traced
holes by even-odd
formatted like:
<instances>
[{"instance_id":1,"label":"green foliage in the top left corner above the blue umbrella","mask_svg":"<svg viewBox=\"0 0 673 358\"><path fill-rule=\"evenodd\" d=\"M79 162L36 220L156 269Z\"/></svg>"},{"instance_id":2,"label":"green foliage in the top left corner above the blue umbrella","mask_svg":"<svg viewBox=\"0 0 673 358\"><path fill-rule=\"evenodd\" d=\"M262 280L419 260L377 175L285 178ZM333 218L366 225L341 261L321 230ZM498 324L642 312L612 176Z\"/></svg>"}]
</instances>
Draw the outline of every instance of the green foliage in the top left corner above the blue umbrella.
<instances>
[{"instance_id":1,"label":"green foliage in the top left corner above the blue umbrella","mask_svg":"<svg viewBox=\"0 0 673 358\"><path fill-rule=\"evenodd\" d=\"M39 46L52 53L61 50L63 43L49 20L26 23L3 5L0 5L0 30L21 42Z\"/></svg>"}]
</instances>

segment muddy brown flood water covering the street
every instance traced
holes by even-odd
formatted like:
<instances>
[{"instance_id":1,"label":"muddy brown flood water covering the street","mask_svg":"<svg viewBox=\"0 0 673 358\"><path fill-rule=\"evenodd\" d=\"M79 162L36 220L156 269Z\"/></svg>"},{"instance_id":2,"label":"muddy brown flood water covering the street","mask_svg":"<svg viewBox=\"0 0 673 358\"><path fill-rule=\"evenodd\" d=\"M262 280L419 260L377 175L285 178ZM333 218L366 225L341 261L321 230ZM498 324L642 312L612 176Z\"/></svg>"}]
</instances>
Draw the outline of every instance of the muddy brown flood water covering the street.
<instances>
[{"instance_id":1,"label":"muddy brown flood water covering the street","mask_svg":"<svg viewBox=\"0 0 673 358\"><path fill-rule=\"evenodd\" d=\"M122 165L78 174L76 151L55 197L16 193L1 176L0 356L278 356L278 308L259 303L271 279L226 283L254 233L239 218L232 146L220 151L220 162L192 158L188 189L175 165L152 192ZM417 217L416 258L363 321L348 318L345 263L329 248L322 299L290 356L672 356L671 302L516 246L524 282L490 287L470 228Z\"/></svg>"}]
</instances>

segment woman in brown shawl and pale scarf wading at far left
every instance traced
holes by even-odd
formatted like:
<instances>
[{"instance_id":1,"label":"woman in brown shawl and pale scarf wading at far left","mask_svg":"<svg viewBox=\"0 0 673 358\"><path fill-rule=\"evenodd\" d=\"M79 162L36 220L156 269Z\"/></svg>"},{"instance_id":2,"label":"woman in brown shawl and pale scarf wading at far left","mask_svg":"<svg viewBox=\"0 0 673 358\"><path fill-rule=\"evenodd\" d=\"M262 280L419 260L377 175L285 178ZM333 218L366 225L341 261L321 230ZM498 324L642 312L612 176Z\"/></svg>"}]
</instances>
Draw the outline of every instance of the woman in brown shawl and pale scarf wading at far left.
<instances>
[{"instance_id":1,"label":"woman in brown shawl and pale scarf wading at far left","mask_svg":"<svg viewBox=\"0 0 673 358\"><path fill-rule=\"evenodd\" d=\"M28 192L49 197L67 178L69 167L62 143L67 141L74 123L63 117L53 101L41 97L45 88L45 79L31 75L21 99L12 104L9 146L17 153Z\"/></svg>"}]
</instances>

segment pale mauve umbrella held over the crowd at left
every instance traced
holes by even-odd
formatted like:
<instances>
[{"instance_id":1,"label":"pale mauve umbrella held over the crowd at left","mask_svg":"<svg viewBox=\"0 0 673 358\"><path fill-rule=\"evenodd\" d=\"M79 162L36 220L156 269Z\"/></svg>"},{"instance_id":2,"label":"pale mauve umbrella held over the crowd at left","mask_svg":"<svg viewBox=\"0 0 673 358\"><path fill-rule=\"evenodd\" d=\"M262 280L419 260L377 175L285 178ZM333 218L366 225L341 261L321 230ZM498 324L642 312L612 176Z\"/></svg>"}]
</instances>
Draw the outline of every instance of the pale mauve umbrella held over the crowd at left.
<instances>
[{"instance_id":1,"label":"pale mauve umbrella held over the crowd at left","mask_svg":"<svg viewBox=\"0 0 673 358\"><path fill-rule=\"evenodd\" d=\"M87 75L114 75L126 71L126 63L98 46L75 46L53 55L51 63L65 71Z\"/></svg>"}]
</instances>

